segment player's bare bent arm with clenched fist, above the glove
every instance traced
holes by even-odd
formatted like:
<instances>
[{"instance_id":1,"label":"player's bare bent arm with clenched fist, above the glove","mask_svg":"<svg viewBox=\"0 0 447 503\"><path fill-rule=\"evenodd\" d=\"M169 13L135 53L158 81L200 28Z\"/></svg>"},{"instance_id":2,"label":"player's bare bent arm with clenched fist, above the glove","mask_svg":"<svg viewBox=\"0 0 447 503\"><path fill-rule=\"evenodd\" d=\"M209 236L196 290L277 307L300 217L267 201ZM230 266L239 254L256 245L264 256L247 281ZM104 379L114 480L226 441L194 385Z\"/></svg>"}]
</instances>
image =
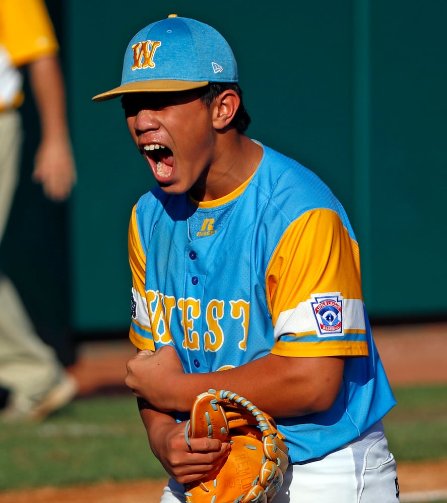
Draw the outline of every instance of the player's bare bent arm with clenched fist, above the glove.
<instances>
[{"instance_id":1,"label":"player's bare bent arm with clenched fist, above the glove","mask_svg":"<svg viewBox=\"0 0 447 503\"><path fill-rule=\"evenodd\" d=\"M246 397L273 417L304 415L332 406L340 390L342 358L269 354L221 372L185 374L172 347L140 352L127 364L126 383L136 396L164 411L188 412L209 388Z\"/></svg>"}]
</instances>

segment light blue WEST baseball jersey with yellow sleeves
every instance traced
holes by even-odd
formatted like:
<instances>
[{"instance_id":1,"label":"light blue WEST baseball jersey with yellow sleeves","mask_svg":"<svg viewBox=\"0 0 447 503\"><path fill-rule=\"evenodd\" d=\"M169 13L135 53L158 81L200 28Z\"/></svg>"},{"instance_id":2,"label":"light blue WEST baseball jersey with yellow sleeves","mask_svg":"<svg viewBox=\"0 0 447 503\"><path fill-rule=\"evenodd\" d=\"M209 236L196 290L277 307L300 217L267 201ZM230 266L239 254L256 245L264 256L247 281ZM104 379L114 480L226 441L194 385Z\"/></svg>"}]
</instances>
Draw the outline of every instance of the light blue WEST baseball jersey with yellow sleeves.
<instances>
[{"instance_id":1,"label":"light blue WEST baseball jersey with yellow sleeves","mask_svg":"<svg viewBox=\"0 0 447 503\"><path fill-rule=\"evenodd\" d=\"M302 462L358 437L395 400L344 209L312 172L263 148L256 173L222 199L197 203L156 187L139 200L129 230L130 338L140 349L173 344L185 372L269 353L348 357L330 410L278 420L292 462Z\"/></svg>"}]
</instances>

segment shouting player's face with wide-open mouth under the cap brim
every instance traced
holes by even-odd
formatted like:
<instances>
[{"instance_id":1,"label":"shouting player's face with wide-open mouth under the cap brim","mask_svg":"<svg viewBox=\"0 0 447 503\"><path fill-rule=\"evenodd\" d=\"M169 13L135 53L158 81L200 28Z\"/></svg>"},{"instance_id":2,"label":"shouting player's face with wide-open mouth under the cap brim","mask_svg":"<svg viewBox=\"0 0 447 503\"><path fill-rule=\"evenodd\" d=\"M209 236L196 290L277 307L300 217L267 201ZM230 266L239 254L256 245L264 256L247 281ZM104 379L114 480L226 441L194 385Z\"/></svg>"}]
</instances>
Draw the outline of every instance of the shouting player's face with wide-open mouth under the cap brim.
<instances>
[{"instance_id":1,"label":"shouting player's face with wide-open mouth under the cap brim","mask_svg":"<svg viewBox=\"0 0 447 503\"><path fill-rule=\"evenodd\" d=\"M130 93L121 102L132 138L165 192L186 192L206 177L214 129L199 92Z\"/></svg>"}]
</instances>

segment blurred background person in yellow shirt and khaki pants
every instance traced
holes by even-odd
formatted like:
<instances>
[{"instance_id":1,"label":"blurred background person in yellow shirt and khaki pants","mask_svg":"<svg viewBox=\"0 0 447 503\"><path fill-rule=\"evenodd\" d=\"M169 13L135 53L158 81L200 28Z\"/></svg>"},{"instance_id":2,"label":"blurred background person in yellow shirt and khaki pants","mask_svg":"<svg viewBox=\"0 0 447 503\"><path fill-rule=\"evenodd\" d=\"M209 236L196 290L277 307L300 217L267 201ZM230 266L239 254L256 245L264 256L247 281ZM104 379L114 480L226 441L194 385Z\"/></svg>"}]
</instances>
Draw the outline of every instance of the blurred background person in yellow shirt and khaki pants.
<instances>
[{"instance_id":1,"label":"blurred background person in yellow shirt and khaki pants","mask_svg":"<svg viewBox=\"0 0 447 503\"><path fill-rule=\"evenodd\" d=\"M42 0L0 3L0 242L18 184L23 142L23 71L28 70L41 139L33 180L66 200L76 183L58 43ZM0 418L37 421L67 404L76 380L43 343L11 280L0 271Z\"/></svg>"}]
</instances>

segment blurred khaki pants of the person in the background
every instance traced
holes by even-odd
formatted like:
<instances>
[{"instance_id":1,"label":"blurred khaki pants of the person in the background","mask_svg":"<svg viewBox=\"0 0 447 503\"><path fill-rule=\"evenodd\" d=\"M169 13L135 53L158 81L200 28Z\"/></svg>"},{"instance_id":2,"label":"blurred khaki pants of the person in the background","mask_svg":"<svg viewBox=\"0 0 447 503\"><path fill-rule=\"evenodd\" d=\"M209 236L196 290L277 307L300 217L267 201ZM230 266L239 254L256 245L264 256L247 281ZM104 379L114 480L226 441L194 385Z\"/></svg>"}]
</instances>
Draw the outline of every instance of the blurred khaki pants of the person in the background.
<instances>
[{"instance_id":1,"label":"blurred khaki pants of the person in the background","mask_svg":"<svg viewBox=\"0 0 447 503\"><path fill-rule=\"evenodd\" d=\"M0 242L18 183L22 147L21 117L0 113ZM0 385L11 405L27 411L59 381L55 352L39 338L14 285L0 273Z\"/></svg>"}]
</instances>

